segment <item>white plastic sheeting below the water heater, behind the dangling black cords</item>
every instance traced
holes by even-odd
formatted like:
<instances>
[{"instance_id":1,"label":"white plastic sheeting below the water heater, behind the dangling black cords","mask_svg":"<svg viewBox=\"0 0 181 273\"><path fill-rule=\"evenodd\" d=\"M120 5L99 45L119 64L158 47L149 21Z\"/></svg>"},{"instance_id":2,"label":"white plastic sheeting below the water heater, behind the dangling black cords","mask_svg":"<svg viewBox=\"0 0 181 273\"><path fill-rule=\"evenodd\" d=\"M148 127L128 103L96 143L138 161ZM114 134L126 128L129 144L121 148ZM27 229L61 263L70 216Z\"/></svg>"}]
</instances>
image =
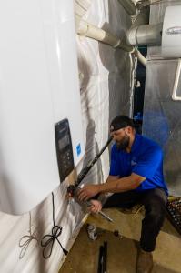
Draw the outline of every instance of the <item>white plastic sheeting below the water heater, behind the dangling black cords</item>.
<instances>
[{"instance_id":1,"label":"white plastic sheeting below the water heater, behind the dangling black cords","mask_svg":"<svg viewBox=\"0 0 181 273\"><path fill-rule=\"evenodd\" d=\"M59 240L64 248L69 248L68 244L71 244L69 239L74 239L77 223L80 223L84 215L78 204L72 207L65 201L65 192L66 184L54 192L55 224L63 227ZM0 214L1 272L57 272L60 258L63 256L58 243L55 241L52 255L48 259L43 258L43 248L40 245L43 236L51 234L52 216L51 195L22 217Z\"/></svg>"}]
</instances>

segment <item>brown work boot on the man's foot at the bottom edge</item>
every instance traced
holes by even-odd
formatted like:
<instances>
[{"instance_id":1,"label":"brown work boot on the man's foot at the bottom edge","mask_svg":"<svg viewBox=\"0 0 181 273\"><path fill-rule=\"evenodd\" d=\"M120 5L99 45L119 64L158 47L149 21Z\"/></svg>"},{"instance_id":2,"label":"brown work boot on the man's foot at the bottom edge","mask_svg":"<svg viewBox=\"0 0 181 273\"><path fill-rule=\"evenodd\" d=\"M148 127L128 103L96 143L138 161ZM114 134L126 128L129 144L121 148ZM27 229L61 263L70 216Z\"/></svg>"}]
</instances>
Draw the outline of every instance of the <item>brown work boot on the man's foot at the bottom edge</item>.
<instances>
[{"instance_id":1,"label":"brown work boot on the man's foot at the bottom edge","mask_svg":"<svg viewBox=\"0 0 181 273\"><path fill-rule=\"evenodd\" d=\"M137 258L136 273L150 273L153 265L152 253L140 249Z\"/></svg>"}]
</instances>

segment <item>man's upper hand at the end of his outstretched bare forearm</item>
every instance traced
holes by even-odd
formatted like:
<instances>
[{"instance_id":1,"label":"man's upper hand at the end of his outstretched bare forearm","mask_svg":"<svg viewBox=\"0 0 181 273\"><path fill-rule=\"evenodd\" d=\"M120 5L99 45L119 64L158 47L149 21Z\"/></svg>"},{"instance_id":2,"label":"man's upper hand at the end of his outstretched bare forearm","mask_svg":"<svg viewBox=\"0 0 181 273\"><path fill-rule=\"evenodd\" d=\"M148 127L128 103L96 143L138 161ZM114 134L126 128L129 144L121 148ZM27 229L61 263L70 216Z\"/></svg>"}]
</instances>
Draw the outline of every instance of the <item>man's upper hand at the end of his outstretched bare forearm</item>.
<instances>
[{"instance_id":1,"label":"man's upper hand at the end of his outstretched bare forearm","mask_svg":"<svg viewBox=\"0 0 181 273\"><path fill-rule=\"evenodd\" d=\"M85 185L78 191L77 195L80 201L86 201L90 197L95 197L98 193L98 185Z\"/></svg>"}]
</instances>

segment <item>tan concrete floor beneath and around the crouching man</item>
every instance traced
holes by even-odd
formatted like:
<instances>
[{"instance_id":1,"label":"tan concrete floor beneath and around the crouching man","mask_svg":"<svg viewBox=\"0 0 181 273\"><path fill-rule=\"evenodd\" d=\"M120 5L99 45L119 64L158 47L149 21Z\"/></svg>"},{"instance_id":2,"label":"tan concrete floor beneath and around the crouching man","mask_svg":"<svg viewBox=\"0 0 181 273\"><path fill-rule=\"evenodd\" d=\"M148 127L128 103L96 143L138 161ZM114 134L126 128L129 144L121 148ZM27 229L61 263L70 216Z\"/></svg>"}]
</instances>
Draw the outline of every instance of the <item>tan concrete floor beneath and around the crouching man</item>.
<instances>
[{"instance_id":1,"label":"tan concrete floor beneath and around the crouching man","mask_svg":"<svg viewBox=\"0 0 181 273\"><path fill-rule=\"evenodd\" d=\"M100 234L96 241L81 229L59 273L96 273L99 247L107 241L107 273L135 273L137 245L144 211L137 214L120 212L116 208L104 209L114 219L107 222L100 215L91 215L87 223L96 225ZM122 238L114 235L118 230ZM181 240L175 228L166 220L154 252L153 273L181 272Z\"/></svg>"}]
</instances>

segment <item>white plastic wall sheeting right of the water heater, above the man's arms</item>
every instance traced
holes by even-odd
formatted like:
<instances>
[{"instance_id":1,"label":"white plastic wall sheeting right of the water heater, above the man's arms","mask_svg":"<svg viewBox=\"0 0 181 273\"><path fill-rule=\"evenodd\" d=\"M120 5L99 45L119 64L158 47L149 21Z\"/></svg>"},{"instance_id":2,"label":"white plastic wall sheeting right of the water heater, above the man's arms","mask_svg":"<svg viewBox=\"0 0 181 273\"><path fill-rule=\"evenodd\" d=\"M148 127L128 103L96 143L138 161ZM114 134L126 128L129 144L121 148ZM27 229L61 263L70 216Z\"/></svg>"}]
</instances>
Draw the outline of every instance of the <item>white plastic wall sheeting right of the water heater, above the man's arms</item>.
<instances>
[{"instance_id":1,"label":"white plastic wall sheeting right of the water heater, above the man's arms","mask_svg":"<svg viewBox=\"0 0 181 273\"><path fill-rule=\"evenodd\" d=\"M131 24L129 16L116 1L111 4L110 1L93 1L83 19L120 37ZM117 22L120 22L119 26ZM131 70L134 61L125 51L84 36L77 36L77 45L85 129L85 166L105 145L111 119L120 113L130 115L132 111L134 75ZM84 183L106 180L109 171L107 159L108 151L85 177Z\"/></svg>"}]
</instances>

